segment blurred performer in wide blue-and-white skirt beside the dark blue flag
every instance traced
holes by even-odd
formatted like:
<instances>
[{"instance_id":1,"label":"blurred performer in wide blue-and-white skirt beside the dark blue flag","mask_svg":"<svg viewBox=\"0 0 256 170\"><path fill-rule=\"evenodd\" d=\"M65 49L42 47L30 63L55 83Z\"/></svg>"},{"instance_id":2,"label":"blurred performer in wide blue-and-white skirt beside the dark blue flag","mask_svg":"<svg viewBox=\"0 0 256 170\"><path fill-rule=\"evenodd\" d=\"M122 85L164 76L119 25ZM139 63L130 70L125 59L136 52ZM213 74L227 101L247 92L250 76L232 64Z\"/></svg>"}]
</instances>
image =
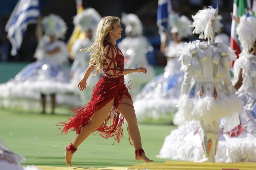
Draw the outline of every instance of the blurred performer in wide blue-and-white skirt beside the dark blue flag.
<instances>
[{"instance_id":1,"label":"blurred performer in wide blue-and-white skirt beside the dark blue flag","mask_svg":"<svg viewBox=\"0 0 256 170\"><path fill-rule=\"evenodd\" d=\"M153 78L136 96L133 104L138 120L147 117L157 119L177 111L175 105L178 103L183 81L179 56L185 43L182 39L192 35L192 27L189 27L192 22L186 16L179 17L177 14L170 15L169 19L173 40L164 49L167 57L165 72Z\"/></svg>"}]
</instances>

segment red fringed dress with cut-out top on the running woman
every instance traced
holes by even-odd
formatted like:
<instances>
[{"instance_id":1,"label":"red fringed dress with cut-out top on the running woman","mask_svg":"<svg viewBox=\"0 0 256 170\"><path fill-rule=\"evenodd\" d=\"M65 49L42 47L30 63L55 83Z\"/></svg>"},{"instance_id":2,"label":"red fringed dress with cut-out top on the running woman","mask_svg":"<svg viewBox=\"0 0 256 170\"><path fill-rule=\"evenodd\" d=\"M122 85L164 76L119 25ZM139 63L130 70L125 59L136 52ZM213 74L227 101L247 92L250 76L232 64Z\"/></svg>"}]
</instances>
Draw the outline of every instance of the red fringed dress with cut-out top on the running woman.
<instances>
[{"instance_id":1,"label":"red fringed dress with cut-out top on the running woman","mask_svg":"<svg viewBox=\"0 0 256 170\"><path fill-rule=\"evenodd\" d=\"M61 134L70 131L76 131L76 133L79 134L81 128L92 120L94 112L114 99L110 113L101 126L95 131L98 131L97 133L104 138L114 137L114 142L117 141L118 143L123 137L124 117L118 112L117 107L124 97L128 99L132 99L132 97L128 92L127 86L124 84L123 75L119 75L117 78L108 78L107 76L111 77L123 73L124 56L120 49L110 42L105 44L105 48L107 48L107 53L105 54L107 60L103 62L105 75L103 75L94 86L91 101L81 108L74 109L73 112L75 112L75 115L72 114L67 121L57 124L57 126L64 126L59 128L62 129ZM109 74L110 70L114 71L114 74Z\"/></svg>"}]
</instances>

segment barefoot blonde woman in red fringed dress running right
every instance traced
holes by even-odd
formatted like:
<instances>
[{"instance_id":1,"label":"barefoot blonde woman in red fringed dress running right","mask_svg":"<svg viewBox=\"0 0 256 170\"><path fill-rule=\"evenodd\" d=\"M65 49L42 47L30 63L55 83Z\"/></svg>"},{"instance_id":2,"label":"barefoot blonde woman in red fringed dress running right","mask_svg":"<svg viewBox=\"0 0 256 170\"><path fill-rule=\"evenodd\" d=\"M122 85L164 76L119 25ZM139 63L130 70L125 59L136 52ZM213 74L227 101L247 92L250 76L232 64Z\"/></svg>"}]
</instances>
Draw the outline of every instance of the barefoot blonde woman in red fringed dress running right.
<instances>
[{"instance_id":1,"label":"barefoot blonde woman in red fringed dress running right","mask_svg":"<svg viewBox=\"0 0 256 170\"><path fill-rule=\"evenodd\" d=\"M78 84L79 90L86 89L86 80L94 69L97 74L103 68L105 74L94 86L91 101L75 109L75 116L70 117L68 121L58 123L59 126L64 126L60 128L62 133L68 131L77 133L73 142L65 147L65 160L69 166L77 147L94 131L99 131L104 138L114 137L114 142L119 142L123 137L124 118L129 125L135 159L153 162L145 156L142 149L133 102L124 84L124 75L135 72L146 74L147 70L143 67L124 69L124 56L116 46L116 40L121 38L122 30L118 17L105 16L97 26L96 38L92 46L82 50L91 52L91 64Z\"/></svg>"}]
</instances>

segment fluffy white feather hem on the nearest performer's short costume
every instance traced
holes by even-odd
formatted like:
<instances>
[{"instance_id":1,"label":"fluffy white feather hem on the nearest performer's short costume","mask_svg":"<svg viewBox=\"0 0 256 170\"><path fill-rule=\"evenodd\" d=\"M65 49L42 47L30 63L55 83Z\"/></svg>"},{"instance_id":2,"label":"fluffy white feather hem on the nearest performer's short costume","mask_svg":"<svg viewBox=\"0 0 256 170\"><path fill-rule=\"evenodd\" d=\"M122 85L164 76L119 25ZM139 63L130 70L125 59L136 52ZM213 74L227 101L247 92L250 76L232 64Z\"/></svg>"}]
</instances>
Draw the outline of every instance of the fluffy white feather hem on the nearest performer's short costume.
<instances>
[{"instance_id":1,"label":"fluffy white feather hem on the nearest performer's short costume","mask_svg":"<svg viewBox=\"0 0 256 170\"><path fill-rule=\"evenodd\" d=\"M242 103L235 95L229 95L220 100L213 97L202 99L189 98L183 95L177 104L179 111L176 116L184 120L203 120L205 126L210 126L212 120L220 120L223 117L231 117L233 114L242 112Z\"/></svg>"}]
</instances>

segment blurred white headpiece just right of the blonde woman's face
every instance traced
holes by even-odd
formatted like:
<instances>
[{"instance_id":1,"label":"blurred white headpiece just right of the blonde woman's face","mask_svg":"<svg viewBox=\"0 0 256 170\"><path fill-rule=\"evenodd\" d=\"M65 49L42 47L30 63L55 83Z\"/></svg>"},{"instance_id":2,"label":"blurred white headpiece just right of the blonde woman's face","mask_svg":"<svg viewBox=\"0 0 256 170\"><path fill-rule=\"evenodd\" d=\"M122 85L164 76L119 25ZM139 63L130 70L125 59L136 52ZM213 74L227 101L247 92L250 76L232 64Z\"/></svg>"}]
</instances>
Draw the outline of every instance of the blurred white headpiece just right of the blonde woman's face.
<instances>
[{"instance_id":1,"label":"blurred white headpiece just right of the blonde woman's face","mask_svg":"<svg viewBox=\"0 0 256 170\"><path fill-rule=\"evenodd\" d=\"M142 35L143 26L137 15L122 13L121 22L125 24L125 33L132 36Z\"/></svg>"}]
</instances>

